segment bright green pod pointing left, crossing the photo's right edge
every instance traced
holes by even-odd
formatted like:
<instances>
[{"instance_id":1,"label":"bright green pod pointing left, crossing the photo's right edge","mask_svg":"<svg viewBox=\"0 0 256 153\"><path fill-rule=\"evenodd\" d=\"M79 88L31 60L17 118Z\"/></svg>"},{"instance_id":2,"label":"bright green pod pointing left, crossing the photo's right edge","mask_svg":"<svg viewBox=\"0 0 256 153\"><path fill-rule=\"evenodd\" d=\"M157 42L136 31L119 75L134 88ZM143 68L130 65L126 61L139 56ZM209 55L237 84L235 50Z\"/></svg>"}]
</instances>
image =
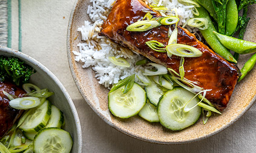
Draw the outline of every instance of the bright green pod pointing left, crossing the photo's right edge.
<instances>
[{"instance_id":1,"label":"bright green pod pointing left, crossing the photo's right edge","mask_svg":"<svg viewBox=\"0 0 256 153\"><path fill-rule=\"evenodd\" d=\"M256 52L256 43L254 42L248 42L238 38L226 36L224 34L219 34L216 31L213 31L213 33L218 37L218 40L220 40L221 44L230 49L231 51L234 51L238 54L248 54Z\"/></svg>"}]
</instances>

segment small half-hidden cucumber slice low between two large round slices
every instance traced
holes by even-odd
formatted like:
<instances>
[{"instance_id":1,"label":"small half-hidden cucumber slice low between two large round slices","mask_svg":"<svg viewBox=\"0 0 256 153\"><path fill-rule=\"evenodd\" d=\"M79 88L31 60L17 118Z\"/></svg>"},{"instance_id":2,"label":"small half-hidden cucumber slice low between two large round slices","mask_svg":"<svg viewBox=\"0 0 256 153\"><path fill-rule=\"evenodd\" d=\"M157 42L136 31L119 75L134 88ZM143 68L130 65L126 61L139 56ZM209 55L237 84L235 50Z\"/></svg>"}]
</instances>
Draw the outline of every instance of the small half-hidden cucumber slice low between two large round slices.
<instances>
[{"instance_id":1,"label":"small half-hidden cucumber slice low between two large round slices","mask_svg":"<svg viewBox=\"0 0 256 153\"><path fill-rule=\"evenodd\" d=\"M148 122L159 122L157 107L151 104L149 100L147 100L146 105L140 110L138 115Z\"/></svg>"}]
</instances>

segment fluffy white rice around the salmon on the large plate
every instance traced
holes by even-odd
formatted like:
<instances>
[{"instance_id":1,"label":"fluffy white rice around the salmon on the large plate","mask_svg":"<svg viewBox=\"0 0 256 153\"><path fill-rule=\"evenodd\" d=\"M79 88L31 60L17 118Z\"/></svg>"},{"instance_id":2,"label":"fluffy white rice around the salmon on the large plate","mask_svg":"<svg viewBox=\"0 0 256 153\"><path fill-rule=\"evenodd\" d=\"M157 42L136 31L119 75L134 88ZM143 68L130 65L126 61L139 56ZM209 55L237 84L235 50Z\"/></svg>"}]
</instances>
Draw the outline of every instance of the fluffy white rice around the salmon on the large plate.
<instances>
[{"instance_id":1,"label":"fluffy white rice around the salmon on the large plate","mask_svg":"<svg viewBox=\"0 0 256 153\"><path fill-rule=\"evenodd\" d=\"M103 20L107 19L115 0L90 0L90 2L92 5L88 6L87 14L89 14L93 23L84 21L84 25L78 28L84 42L77 45L79 52L73 51L73 54L76 55L77 62L84 63L83 68L92 66L99 83L109 88L110 85L117 83L119 79L124 79L145 69L145 65L144 68L135 65L135 62L145 57L112 42L107 37L98 35L100 26ZM183 24L193 17L192 8L194 6L185 6L177 0L146 0L146 3L158 5L162 3L163 6L169 8L169 10L163 12L166 15L174 14L172 9L176 9L180 18L179 24ZM123 57L131 66L126 68L114 65L108 60L108 57ZM137 78L135 81L139 82Z\"/></svg>"}]
</instances>

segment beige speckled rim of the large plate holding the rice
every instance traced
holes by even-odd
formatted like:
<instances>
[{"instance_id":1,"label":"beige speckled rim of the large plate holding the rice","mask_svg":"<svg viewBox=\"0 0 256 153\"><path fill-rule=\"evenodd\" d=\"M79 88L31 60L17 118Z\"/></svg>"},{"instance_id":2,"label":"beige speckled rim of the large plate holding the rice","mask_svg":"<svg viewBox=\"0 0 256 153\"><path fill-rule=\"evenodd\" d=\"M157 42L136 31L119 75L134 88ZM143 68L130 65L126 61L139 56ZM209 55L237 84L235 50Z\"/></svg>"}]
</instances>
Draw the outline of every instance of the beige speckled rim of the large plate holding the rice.
<instances>
[{"instance_id":1,"label":"beige speckled rim of the large plate holding the rice","mask_svg":"<svg viewBox=\"0 0 256 153\"><path fill-rule=\"evenodd\" d=\"M74 16L75 16L75 11L76 9L78 8L78 4L79 2L82 1L82 0L75 0L74 2L74 6L72 8L72 11L70 13L70 18L69 18L69 23L68 23L68 28L67 28L67 58L68 58L68 62L69 62L69 66L70 66L70 71L71 71L71 74L73 76L73 79L74 79L74 82L76 84L76 87L78 88L80 94L82 95L82 97L84 98L84 100L87 102L87 104L90 106L90 108L101 118L103 119L106 123L108 123L108 125L110 125L111 127L113 127L114 129L128 135L128 136L131 136L133 138L136 138L136 139L139 139L139 140L143 140L145 142L151 142L151 143L156 143L156 144L186 144L186 143L192 143L192 142L197 142L197 141L200 141L200 140L203 140L203 139L206 139L206 138L209 138L210 136L213 136L223 130L225 130L227 127L229 127L230 125L232 125L233 123L235 123L238 119L241 118L241 116L244 115L244 113L246 113L249 108L251 108L251 106L253 105L253 103L256 101L256 95L253 96L253 99L250 101L249 105L247 105L246 108L244 108L244 110L238 115L236 116L236 118L234 118L233 120L231 120L228 124L226 124L225 126L219 128L218 130L215 130L214 132L212 133L208 133L204 136L201 136L201 137L198 137L198 138L195 138L195 139L189 139L189 140L186 140L186 141L179 141L179 142L164 142L164 141L156 141L154 139L146 139L146 138L142 138L140 136L136 136L132 133L129 133L128 131L125 131L124 129L122 128L119 128L119 127L116 127L115 125L113 125L110 121L108 121L108 119L106 119L104 116L102 116L101 113L99 113L99 111L96 109L96 108L93 108L93 106L91 105L90 103L90 100L87 99L87 96L84 94L84 92L81 90L82 88L82 85L80 84L80 82L78 82L79 80L79 76L76 75L76 72L75 72L75 68L74 68L74 65L73 65L73 59L72 59L72 51L71 51L71 41L70 40L70 37L71 37L71 28L73 26L73 22L74 22Z\"/></svg>"}]
</instances>

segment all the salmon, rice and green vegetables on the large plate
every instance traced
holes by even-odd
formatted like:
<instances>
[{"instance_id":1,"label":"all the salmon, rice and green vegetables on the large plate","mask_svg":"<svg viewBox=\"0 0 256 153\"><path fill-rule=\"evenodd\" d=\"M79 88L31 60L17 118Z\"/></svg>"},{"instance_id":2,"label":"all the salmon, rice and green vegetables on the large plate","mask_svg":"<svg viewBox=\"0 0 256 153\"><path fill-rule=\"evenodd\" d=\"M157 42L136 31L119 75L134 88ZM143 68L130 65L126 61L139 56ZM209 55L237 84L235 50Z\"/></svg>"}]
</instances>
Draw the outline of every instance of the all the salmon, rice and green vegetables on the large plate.
<instances>
[{"instance_id":1,"label":"all the salmon, rice and green vegetables on the large plate","mask_svg":"<svg viewBox=\"0 0 256 153\"><path fill-rule=\"evenodd\" d=\"M241 72L236 66L238 54L255 52L255 43L241 40L246 13L238 17L238 11L246 12L252 3L241 1L237 8L232 0L207 5L200 0L92 2L87 13L94 23L85 21L79 28L85 42L74 54L84 68L93 66L99 83L111 89L108 107L114 116L139 114L182 130L203 113L205 124L212 112L221 114L227 107L237 81L255 64L253 56ZM188 9L191 14L179 14ZM237 19L230 21L230 13ZM240 39L230 37L239 28ZM236 52L234 57L228 49Z\"/></svg>"}]
</instances>

